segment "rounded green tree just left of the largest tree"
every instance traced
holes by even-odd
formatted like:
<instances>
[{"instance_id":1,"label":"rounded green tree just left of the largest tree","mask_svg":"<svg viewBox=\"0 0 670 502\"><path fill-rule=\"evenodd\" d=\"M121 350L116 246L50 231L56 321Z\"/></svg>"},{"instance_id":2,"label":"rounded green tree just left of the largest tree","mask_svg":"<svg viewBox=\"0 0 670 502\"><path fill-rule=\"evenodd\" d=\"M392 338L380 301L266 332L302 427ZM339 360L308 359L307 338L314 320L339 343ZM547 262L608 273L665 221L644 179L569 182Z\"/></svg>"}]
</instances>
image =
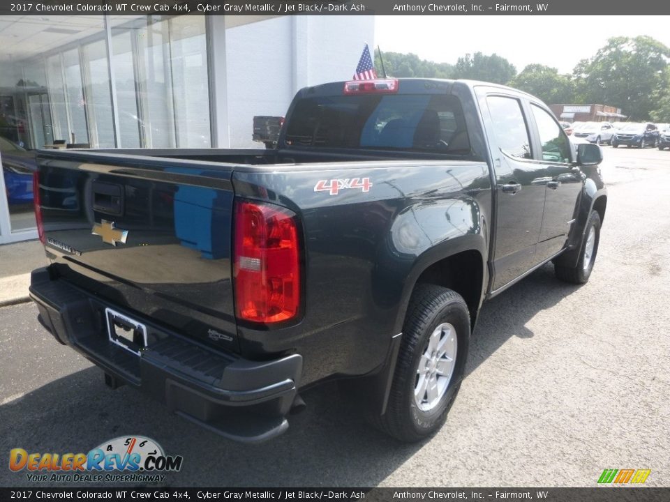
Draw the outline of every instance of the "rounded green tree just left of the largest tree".
<instances>
[{"instance_id":1,"label":"rounded green tree just left of the largest tree","mask_svg":"<svg viewBox=\"0 0 670 502\"><path fill-rule=\"evenodd\" d=\"M509 82L509 85L537 96L549 105L573 101L573 86L569 75L560 75L556 68L530 64Z\"/></svg>"}]
</instances>

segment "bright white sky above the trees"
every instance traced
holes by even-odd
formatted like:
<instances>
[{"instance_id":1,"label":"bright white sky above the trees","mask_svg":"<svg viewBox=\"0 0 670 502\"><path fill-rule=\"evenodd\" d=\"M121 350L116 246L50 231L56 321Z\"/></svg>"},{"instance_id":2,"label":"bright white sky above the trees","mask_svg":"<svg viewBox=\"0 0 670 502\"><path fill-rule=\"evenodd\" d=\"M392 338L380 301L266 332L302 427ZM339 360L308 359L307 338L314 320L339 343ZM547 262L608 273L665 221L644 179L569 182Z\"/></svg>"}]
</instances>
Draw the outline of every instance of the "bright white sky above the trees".
<instances>
[{"instance_id":1,"label":"bright white sky above the trees","mask_svg":"<svg viewBox=\"0 0 670 502\"><path fill-rule=\"evenodd\" d=\"M435 63L483 52L520 72L530 63L572 73L613 36L648 35L670 47L669 16L376 16L375 48Z\"/></svg>"}]
</instances>

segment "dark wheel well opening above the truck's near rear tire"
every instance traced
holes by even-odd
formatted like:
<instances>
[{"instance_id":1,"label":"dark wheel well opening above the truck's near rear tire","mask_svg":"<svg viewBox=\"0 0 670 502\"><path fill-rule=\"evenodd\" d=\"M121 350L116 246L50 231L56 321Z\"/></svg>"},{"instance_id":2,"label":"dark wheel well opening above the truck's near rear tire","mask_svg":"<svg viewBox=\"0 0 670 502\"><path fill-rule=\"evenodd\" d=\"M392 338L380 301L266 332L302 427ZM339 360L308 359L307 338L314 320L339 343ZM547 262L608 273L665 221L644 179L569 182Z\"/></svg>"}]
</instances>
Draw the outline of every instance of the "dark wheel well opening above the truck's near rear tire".
<instances>
[{"instance_id":1,"label":"dark wheel well opening above the truck's near rear tire","mask_svg":"<svg viewBox=\"0 0 670 502\"><path fill-rule=\"evenodd\" d=\"M482 254L468 250L435 262L419 275L417 284L435 284L453 289L470 310L470 322L475 325L479 300L482 296Z\"/></svg>"}]
</instances>

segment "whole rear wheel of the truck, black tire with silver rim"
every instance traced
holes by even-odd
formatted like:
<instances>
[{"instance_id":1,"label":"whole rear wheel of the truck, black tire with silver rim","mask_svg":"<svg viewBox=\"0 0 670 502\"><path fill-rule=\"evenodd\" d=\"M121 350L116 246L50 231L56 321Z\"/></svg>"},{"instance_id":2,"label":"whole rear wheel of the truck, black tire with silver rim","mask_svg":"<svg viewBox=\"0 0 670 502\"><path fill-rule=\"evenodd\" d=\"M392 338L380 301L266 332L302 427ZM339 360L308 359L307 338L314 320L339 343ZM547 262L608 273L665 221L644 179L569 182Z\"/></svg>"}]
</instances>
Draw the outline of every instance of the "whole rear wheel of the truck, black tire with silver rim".
<instances>
[{"instance_id":1,"label":"whole rear wheel of the truck, black tire with silver rim","mask_svg":"<svg viewBox=\"0 0 670 502\"><path fill-rule=\"evenodd\" d=\"M470 313L451 289L418 284L408 307L386 413L374 425L401 441L420 441L442 427L461 387Z\"/></svg>"}]
</instances>

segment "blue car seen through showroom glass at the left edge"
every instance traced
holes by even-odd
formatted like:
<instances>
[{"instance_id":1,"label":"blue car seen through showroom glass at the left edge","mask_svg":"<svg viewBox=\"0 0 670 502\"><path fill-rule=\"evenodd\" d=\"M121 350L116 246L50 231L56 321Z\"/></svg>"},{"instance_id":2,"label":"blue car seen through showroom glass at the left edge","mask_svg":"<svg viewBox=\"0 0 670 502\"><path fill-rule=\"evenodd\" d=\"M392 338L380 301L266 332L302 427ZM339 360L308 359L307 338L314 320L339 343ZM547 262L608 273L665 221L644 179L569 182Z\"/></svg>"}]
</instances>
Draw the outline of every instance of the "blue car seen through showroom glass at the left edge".
<instances>
[{"instance_id":1,"label":"blue car seen through showroom glass at the left edge","mask_svg":"<svg viewBox=\"0 0 670 502\"><path fill-rule=\"evenodd\" d=\"M0 137L2 175L9 204L31 204L35 155L9 139Z\"/></svg>"}]
</instances>

